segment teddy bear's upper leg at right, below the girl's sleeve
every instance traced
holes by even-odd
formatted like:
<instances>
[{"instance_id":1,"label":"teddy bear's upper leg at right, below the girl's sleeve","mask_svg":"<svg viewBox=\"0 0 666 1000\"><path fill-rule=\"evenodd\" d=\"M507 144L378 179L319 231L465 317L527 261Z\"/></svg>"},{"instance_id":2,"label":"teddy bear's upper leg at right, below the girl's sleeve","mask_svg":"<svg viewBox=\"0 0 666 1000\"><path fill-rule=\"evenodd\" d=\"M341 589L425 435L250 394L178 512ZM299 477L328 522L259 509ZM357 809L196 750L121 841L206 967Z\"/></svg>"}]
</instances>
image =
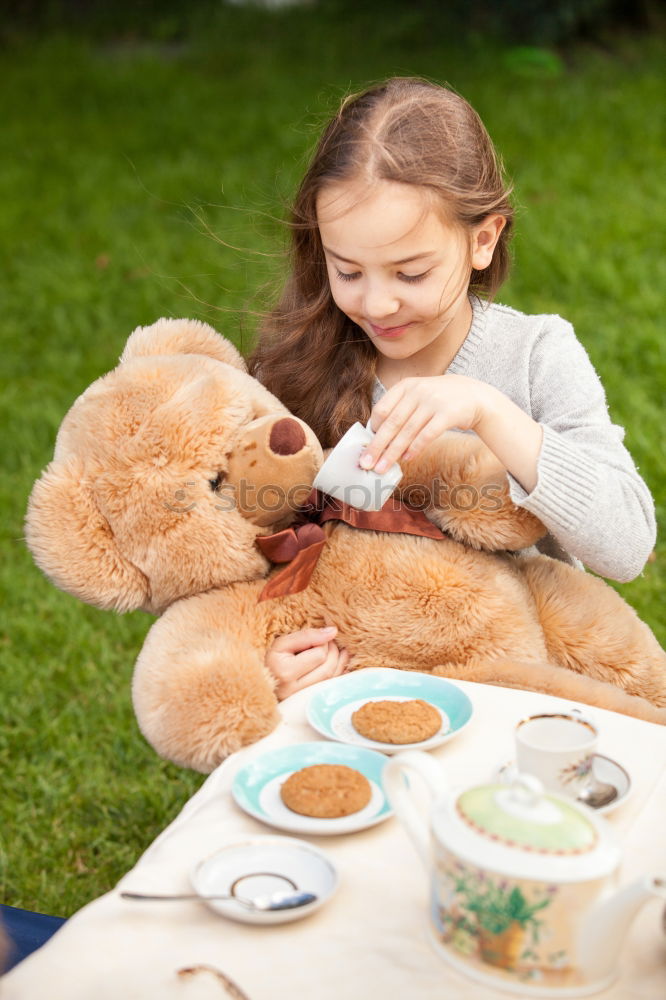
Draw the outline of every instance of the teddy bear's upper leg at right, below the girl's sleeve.
<instances>
[{"instance_id":1,"label":"teddy bear's upper leg at right, below the girl's sleeve","mask_svg":"<svg viewBox=\"0 0 666 1000\"><path fill-rule=\"evenodd\" d=\"M553 663L666 706L666 653L612 587L546 556L522 568Z\"/></svg>"}]
</instances>

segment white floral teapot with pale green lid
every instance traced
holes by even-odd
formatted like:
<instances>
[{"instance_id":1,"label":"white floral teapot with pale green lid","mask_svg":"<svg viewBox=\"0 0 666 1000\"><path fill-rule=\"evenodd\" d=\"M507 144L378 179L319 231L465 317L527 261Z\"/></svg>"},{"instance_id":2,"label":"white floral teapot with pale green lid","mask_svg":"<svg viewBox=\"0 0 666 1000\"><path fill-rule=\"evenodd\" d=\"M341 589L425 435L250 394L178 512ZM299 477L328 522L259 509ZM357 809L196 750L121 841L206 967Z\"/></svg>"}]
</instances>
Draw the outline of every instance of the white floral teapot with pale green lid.
<instances>
[{"instance_id":1,"label":"white floral teapot with pale green lid","mask_svg":"<svg viewBox=\"0 0 666 1000\"><path fill-rule=\"evenodd\" d=\"M414 774L434 799L430 832ZM386 763L382 783L431 875L436 949L485 985L514 996L603 990L633 917L651 896L666 899L666 875L617 890L611 827L532 775L452 794L436 760L411 750Z\"/></svg>"}]
</instances>

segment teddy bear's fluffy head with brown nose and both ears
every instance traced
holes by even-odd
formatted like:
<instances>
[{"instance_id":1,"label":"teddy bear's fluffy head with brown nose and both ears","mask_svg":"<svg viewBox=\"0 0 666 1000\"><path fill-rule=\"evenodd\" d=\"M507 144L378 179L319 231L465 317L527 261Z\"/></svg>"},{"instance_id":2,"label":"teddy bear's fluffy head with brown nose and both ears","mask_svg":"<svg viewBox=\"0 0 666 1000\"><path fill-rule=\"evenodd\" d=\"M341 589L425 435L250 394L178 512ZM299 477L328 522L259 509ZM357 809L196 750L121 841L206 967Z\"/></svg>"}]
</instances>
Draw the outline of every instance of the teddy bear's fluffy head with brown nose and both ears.
<instances>
[{"instance_id":1,"label":"teddy bear's fluffy head with brown nose and both ears","mask_svg":"<svg viewBox=\"0 0 666 1000\"><path fill-rule=\"evenodd\" d=\"M322 462L310 428L204 323L139 327L76 400L35 483L26 540L63 590L162 611L261 577L258 535L288 524Z\"/></svg>"}]
</instances>

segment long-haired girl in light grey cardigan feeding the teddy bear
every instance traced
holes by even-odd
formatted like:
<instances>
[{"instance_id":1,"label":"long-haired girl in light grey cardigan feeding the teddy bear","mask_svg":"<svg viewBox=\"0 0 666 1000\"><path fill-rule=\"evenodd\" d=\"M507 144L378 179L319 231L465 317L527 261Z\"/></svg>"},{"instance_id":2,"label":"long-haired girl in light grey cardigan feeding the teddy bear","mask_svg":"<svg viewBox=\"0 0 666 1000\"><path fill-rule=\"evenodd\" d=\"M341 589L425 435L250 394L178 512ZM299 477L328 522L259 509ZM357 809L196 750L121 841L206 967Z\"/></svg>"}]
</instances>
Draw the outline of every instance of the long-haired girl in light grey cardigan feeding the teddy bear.
<instances>
[{"instance_id":1,"label":"long-haired girl in light grey cardigan feeding the teddy bear","mask_svg":"<svg viewBox=\"0 0 666 1000\"><path fill-rule=\"evenodd\" d=\"M345 100L293 209L292 273L251 372L334 445L355 421L381 472L452 428L476 433L541 551L615 580L654 545L654 506L571 325L492 303L509 269L509 189L457 94L392 79ZM278 697L341 673L335 628L275 641Z\"/></svg>"}]
</instances>

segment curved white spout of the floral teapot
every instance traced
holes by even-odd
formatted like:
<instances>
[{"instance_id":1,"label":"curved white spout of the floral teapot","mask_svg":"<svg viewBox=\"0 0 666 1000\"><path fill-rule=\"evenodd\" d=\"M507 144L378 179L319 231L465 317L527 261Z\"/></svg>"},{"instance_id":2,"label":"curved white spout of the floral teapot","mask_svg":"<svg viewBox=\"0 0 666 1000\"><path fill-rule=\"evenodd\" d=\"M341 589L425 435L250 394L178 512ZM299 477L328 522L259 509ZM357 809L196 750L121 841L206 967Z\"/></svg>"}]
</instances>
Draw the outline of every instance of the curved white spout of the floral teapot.
<instances>
[{"instance_id":1,"label":"curved white spout of the floral teapot","mask_svg":"<svg viewBox=\"0 0 666 1000\"><path fill-rule=\"evenodd\" d=\"M666 900L666 877L645 875L593 908L582 927L580 965L591 981L612 981L629 926L652 896Z\"/></svg>"}]
</instances>

